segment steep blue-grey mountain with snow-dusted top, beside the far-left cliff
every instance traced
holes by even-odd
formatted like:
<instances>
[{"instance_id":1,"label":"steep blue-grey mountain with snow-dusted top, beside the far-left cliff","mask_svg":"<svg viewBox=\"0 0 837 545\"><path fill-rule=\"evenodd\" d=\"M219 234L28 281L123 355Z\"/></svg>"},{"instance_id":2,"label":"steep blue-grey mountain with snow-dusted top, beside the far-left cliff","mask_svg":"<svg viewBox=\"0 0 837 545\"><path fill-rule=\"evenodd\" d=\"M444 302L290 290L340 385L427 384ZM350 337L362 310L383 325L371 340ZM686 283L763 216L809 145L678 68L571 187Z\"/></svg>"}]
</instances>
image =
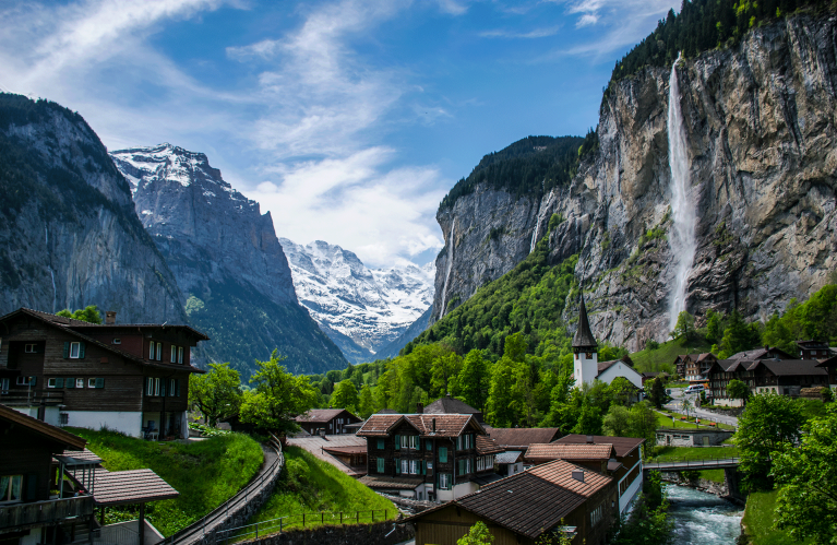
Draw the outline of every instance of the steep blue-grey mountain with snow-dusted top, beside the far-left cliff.
<instances>
[{"instance_id":1,"label":"steep blue-grey mountain with snow-dusted top, beside the far-left cliff","mask_svg":"<svg viewBox=\"0 0 837 545\"><path fill-rule=\"evenodd\" d=\"M294 292L270 212L247 199L206 155L170 144L115 151L136 213L184 294L189 319L212 341L208 356L244 375L274 348L292 372L348 363Z\"/></svg>"}]
</instances>

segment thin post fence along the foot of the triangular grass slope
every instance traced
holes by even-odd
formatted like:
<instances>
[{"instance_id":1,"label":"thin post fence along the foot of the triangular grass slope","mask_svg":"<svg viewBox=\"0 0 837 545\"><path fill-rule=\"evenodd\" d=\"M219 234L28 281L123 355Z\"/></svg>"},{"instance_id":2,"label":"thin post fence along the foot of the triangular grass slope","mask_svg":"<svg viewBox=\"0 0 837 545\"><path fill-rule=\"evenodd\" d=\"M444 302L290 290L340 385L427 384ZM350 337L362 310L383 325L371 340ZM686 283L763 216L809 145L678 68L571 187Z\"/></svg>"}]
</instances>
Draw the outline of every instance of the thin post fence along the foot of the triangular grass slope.
<instances>
[{"instance_id":1,"label":"thin post fence along the foot of the triangular grass slope","mask_svg":"<svg viewBox=\"0 0 837 545\"><path fill-rule=\"evenodd\" d=\"M371 510L371 511L320 511L318 513L301 513L279 517L266 521L247 524L239 528L219 531L216 534L218 544L229 544L247 538L258 538L260 535L282 533L294 528L325 526L338 524L360 524L361 522L374 523L384 522L390 514L395 516L395 510Z\"/></svg>"}]
</instances>

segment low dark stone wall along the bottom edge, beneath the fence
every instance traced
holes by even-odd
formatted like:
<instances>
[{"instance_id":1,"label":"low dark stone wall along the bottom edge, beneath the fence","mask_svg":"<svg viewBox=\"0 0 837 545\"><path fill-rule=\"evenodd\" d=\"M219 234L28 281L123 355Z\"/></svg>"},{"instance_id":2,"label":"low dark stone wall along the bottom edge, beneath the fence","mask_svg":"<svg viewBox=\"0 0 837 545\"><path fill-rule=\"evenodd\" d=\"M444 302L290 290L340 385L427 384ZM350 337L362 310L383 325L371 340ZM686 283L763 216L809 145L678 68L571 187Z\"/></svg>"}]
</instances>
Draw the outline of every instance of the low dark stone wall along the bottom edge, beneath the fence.
<instances>
[{"instance_id":1,"label":"low dark stone wall along the bottom edge, beneath the fence","mask_svg":"<svg viewBox=\"0 0 837 545\"><path fill-rule=\"evenodd\" d=\"M395 531L393 532L393 526ZM391 533L392 532L392 533ZM242 542L242 545L395 545L416 535L411 524L393 521L300 529Z\"/></svg>"}]
</instances>

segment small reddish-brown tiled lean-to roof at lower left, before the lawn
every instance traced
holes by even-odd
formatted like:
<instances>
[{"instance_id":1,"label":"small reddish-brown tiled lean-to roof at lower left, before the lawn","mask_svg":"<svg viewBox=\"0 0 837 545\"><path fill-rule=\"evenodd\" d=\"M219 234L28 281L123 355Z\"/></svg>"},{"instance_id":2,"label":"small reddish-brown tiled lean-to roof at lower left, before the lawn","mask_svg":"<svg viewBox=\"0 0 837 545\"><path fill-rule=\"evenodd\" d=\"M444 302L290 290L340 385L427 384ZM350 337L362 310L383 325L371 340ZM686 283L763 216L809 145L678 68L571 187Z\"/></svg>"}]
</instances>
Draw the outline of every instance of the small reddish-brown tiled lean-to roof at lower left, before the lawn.
<instances>
[{"instance_id":1,"label":"small reddish-brown tiled lean-to roof at lower left, before the lawn","mask_svg":"<svg viewBox=\"0 0 837 545\"><path fill-rule=\"evenodd\" d=\"M77 475L79 478L73 478L93 495L97 506L144 503L177 498L180 495L152 470L109 472L97 469L92 485L88 478L82 478L82 475L88 477L89 473L83 474L79 471Z\"/></svg>"}]
</instances>

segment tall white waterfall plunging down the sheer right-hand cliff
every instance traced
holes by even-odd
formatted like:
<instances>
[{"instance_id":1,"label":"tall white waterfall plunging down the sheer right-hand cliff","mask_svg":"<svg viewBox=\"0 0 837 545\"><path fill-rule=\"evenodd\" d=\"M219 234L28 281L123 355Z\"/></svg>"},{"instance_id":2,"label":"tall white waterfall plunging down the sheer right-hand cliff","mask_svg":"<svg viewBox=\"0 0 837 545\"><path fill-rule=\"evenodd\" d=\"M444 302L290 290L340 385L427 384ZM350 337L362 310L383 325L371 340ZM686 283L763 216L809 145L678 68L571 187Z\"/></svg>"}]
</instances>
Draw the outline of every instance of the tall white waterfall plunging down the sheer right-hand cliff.
<instances>
[{"instance_id":1,"label":"tall white waterfall plunging down the sheer right-hand cliff","mask_svg":"<svg viewBox=\"0 0 837 545\"><path fill-rule=\"evenodd\" d=\"M692 270L695 249L695 206L690 200L689 157L683 112L680 108L680 85L678 84L678 60L671 67L669 76L669 167L671 168L671 214L673 228L669 236L671 253L674 256L674 285L669 299L669 330L673 330L678 315L685 310L686 281Z\"/></svg>"}]
</instances>

